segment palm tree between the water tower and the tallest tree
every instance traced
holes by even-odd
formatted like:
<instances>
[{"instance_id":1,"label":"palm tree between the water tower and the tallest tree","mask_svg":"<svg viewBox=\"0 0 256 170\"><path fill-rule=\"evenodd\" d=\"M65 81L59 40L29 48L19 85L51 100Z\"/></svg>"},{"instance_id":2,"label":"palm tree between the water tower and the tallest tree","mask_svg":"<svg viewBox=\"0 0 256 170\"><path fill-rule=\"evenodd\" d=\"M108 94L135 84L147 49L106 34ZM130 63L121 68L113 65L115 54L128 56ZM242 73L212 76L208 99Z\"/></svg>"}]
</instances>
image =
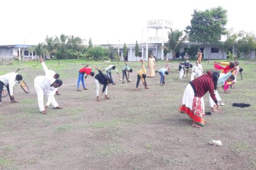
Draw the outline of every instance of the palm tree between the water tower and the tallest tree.
<instances>
[{"instance_id":1,"label":"palm tree between the water tower and the tallest tree","mask_svg":"<svg viewBox=\"0 0 256 170\"><path fill-rule=\"evenodd\" d=\"M179 30L174 30L170 32L168 32L168 49L169 49L169 52L172 53L172 59L174 60L175 59L175 56L176 56L176 52L179 52L180 50L180 46L183 44L183 42L187 39L187 35L183 36L183 32L182 31L179 31ZM166 49L166 51L168 51Z\"/></svg>"}]
</instances>

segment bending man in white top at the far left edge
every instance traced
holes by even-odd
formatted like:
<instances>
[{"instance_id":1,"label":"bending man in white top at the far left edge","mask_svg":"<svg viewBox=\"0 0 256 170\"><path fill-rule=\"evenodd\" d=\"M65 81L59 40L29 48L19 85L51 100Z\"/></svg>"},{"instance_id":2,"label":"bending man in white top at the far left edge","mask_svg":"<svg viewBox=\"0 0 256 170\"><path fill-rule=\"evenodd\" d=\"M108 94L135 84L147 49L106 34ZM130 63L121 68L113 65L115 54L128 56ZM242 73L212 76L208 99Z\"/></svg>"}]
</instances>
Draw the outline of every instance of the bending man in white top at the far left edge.
<instances>
[{"instance_id":1,"label":"bending man in white top at the far left edge","mask_svg":"<svg viewBox=\"0 0 256 170\"><path fill-rule=\"evenodd\" d=\"M16 81L22 80L22 75L18 75L17 73L7 73L5 75L0 76L0 106L2 106L2 89L5 86L7 88L7 92L9 94L10 100L12 103L17 103L13 96L13 86Z\"/></svg>"}]
</instances>

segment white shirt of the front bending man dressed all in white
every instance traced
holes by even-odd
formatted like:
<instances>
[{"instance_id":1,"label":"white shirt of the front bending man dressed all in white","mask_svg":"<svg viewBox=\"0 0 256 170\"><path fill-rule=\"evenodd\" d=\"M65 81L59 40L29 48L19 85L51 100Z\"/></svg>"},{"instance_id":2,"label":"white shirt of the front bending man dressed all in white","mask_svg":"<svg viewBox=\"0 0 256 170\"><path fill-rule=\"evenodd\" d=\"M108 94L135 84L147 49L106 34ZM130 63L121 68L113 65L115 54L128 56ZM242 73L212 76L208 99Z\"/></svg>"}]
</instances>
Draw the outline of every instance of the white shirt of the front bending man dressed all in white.
<instances>
[{"instance_id":1,"label":"white shirt of the front bending man dressed all in white","mask_svg":"<svg viewBox=\"0 0 256 170\"><path fill-rule=\"evenodd\" d=\"M35 77L35 84L38 84L41 89L43 89L44 95L46 97L52 97L54 96L55 92L58 88L55 88L54 86L51 86L52 83L54 83L55 79L46 77L46 76L38 76Z\"/></svg>"}]
</instances>

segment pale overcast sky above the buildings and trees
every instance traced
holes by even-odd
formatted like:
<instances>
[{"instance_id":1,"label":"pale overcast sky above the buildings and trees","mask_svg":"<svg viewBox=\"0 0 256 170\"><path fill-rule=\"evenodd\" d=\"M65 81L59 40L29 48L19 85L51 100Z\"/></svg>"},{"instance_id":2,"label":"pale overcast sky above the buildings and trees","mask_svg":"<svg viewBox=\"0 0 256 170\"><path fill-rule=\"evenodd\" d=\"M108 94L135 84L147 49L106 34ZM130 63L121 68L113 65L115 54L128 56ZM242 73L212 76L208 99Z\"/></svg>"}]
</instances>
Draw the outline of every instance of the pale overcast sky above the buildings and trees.
<instances>
[{"instance_id":1,"label":"pale overcast sky above the buildings and trees","mask_svg":"<svg viewBox=\"0 0 256 170\"><path fill-rule=\"evenodd\" d=\"M1 1L0 45L38 44L46 35L91 37L93 44L144 41L146 21L166 19L173 29L190 25L194 9L222 6L227 29L256 33L256 1L225 0L8 0ZM167 35L166 35L167 36Z\"/></svg>"}]
</instances>

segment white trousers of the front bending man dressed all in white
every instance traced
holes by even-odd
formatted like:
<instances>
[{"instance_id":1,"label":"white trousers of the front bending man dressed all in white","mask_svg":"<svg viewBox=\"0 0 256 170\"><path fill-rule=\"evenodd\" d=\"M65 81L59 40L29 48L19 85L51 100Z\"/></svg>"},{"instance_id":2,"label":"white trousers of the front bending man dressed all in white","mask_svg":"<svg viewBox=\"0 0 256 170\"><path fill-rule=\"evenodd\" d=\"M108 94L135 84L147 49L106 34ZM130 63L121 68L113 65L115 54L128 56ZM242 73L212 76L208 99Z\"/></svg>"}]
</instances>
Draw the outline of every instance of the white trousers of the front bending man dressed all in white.
<instances>
[{"instance_id":1,"label":"white trousers of the front bending man dressed all in white","mask_svg":"<svg viewBox=\"0 0 256 170\"><path fill-rule=\"evenodd\" d=\"M37 92L38 106L39 106L39 109L41 112L41 111L45 110L44 104L43 104L43 97L45 95L44 90L40 87L40 85L38 83L34 83L34 86L35 86L35 91ZM49 104L52 104L52 106L54 106L54 107L59 106L59 104L55 100L54 96L48 97L48 101L47 101L46 105L49 106Z\"/></svg>"}]
</instances>

